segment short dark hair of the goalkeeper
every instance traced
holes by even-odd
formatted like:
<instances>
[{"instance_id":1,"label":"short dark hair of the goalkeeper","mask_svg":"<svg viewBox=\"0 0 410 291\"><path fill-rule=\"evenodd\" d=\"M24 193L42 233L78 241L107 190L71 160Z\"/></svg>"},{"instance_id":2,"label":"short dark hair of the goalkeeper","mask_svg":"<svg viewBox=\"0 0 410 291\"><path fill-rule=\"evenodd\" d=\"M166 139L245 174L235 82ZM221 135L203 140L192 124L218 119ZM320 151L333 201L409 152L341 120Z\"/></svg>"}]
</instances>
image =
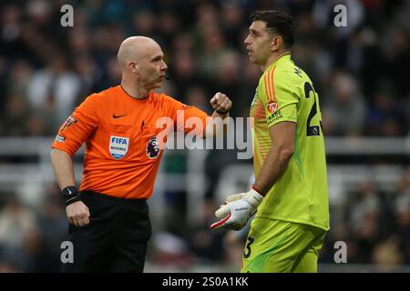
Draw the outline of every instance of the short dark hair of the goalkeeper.
<instances>
[{"instance_id":1,"label":"short dark hair of the goalkeeper","mask_svg":"<svg viewBox=\"0 0 410 291\"><path fill-rule=\"evenodd\" d=\"M291 48L294 43L294 23L291 15L277 10L258 10L251 14L251 22L263 21L266 28L281 35L285 48Z\"/></svg>"}]
</instances>

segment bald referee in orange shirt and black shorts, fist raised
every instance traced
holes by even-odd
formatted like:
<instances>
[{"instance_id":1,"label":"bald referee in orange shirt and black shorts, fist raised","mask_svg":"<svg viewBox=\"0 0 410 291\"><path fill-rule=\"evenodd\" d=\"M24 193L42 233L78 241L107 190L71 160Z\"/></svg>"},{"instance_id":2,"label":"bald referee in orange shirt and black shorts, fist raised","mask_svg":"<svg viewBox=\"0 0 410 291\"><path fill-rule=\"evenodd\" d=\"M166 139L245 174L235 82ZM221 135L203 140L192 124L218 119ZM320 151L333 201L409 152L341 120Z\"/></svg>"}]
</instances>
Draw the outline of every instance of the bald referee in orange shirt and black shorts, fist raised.
<instances>
[{"instance_id":1,"label":"bald referee in orange shirt and black shorts, fist raised","mask_svg":"<svg viewBox=\"0 0 410 291\"><path fill-rule=\"evenodd\" d=\"M166 76L163 56L151 38L126 39L118 49L121 84L89 95L56 135L51 162L74 246L74 263L63 264L62 272L143 272L151 236L146 200L163 153L158 140L163 129L156 123L168 117L175 125L183 112L184 120L200 118L203 126L192 129L194 134L209 132L206 113L152 91ZM223 119L232 103L217 93L210 105L211 117ZM72 157L84 142L84 177L77 190Z\"/></svg>"}]
</instances>

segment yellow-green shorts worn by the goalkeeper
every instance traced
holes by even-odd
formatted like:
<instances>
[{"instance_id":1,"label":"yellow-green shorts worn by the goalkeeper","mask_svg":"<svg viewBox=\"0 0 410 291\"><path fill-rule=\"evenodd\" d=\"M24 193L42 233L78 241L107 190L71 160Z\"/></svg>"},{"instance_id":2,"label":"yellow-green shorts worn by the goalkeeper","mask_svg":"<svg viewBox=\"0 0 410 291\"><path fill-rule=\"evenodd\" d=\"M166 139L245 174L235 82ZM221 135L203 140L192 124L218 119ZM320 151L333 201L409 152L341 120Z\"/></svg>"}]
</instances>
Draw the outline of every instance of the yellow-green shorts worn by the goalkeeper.
<instances>
[{"instance_id":1,"label":"yellow-green shorts worn by the goalkeeper","mask_svg":"<svg viewBox=\"0 0 410 291\"><path fill-rule=\"evenodd\" d=\"M242 273L315 273L327 231L309 225L256 217L251 223Z\"/></svg>"}]
</instances>

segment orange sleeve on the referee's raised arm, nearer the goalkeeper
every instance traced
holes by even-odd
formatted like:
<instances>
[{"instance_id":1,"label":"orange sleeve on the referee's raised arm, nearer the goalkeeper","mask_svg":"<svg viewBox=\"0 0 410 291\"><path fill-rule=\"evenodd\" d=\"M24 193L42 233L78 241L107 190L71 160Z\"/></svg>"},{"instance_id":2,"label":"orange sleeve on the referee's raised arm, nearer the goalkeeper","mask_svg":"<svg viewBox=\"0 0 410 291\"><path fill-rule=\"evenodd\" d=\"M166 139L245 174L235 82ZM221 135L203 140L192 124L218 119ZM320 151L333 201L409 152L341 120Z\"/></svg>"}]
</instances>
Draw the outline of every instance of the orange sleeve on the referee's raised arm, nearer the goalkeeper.
<instances>
[{"instance_id":1,"label":"orange sleeve on the referee's raised arm, nearer the goalkeeper","mask_svg":"<svg viewBox=\"0 0 410 291\"><path fill-rule=\"evenodd\" d=\"M178 131L186 134L202 136L207 126L209 116L195 106L185 105L169 97L173 110L173 121Z\"/></svg>"}]
</instances>

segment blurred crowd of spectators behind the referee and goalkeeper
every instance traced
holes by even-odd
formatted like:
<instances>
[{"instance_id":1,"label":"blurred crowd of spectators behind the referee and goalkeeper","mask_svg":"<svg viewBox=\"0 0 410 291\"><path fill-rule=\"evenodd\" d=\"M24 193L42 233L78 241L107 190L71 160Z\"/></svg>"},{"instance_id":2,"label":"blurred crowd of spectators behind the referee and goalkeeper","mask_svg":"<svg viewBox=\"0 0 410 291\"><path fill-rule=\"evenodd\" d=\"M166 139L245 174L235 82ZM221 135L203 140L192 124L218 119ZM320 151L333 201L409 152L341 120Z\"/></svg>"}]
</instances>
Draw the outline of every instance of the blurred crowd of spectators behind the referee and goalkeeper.
<instances>
[{"instance_id":1,"label":"blurred crowd of spectators behind the referee and goalkeeper","mask_svg":"<svg viewBox=\"0 0 410 291\"><path fill-rule=\"evenodd\" d=\"M73 27L60 25L66 4L74 7ZM333 25L337 4L347 7L346 27ZM249 116L261 72L249 62L243 40L248 17L257 9L293 15L292 58L320 96L325 135L409 135L409 1L2 0L0 136L56 135L87 95L119 84L118 45L130 35L152 37L162 46L170 80L161 92L210 113L209 100L220 91L233 101L232 116ZM0 167L27 159L0 156ZM342 240L348 263L410 265L410 161L399 159L404 170L393 190L385 191L370 177L346 190L343 202L332 204L332 231L321 263L333 263L333 244ZM329 160L342 163L337 157ZM186 193L167 194L167 224L154 229L148 267L239 270L246 233L207 229L220 203L215 185L221 165L234 163L251 161L238 161L235 151L208 155L201 224L190 226L184 219ZM170 171L183 171L178 159L173 168L168 165ZM32 205L18 193L0 191L0 271L58 271L67 219L56 185L44 186L41 204Z\"/></svg>"}]
</instances>

